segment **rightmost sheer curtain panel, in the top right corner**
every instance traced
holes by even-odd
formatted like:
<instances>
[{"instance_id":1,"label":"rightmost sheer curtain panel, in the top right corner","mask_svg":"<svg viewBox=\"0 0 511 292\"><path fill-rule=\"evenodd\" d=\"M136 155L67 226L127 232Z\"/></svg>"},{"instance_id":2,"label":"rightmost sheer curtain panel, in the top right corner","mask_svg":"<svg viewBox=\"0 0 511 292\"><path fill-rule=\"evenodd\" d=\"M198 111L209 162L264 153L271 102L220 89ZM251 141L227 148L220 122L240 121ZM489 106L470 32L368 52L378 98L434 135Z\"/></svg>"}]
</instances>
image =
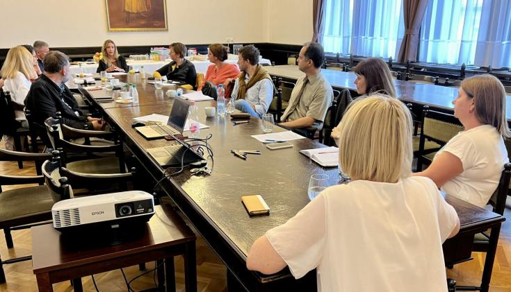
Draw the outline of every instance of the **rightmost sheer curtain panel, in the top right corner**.
<instances>
[{"instance_id":1,"label":"rightmost sheer curtain panel, in the top right corner","mask_svg":"<svg viewBox=\"0 0 511 292\"><path fill-rule=\"evenodd\" d=\"M511 67L511 0L485 0L474 64Z\"/></svg>"}]
</instances>

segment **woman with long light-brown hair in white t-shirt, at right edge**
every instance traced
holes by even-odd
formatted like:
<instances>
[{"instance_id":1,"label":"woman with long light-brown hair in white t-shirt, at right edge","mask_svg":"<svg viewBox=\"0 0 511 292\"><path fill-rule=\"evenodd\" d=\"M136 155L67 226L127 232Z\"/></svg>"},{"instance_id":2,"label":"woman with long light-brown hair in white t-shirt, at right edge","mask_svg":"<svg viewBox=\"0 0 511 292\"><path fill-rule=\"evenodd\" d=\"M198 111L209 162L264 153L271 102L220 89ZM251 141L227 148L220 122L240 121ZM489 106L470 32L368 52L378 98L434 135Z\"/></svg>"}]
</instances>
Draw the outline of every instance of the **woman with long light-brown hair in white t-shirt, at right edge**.
<instances>
[{"instance_id":1,"label":"woman with long light-brown hair in white t-shirt, at right edge","mask_svg":"<svg viewBox=\"0 0 511 292\"><path fill-rule=\"evenodd\" d=\"M510 137L505 117L505 89L489 74L462 81L453 101L454 116L465 130L441 148L421 175L446 194L484 207L509 162L503 137Z\"/></svg>"}]
</instances>

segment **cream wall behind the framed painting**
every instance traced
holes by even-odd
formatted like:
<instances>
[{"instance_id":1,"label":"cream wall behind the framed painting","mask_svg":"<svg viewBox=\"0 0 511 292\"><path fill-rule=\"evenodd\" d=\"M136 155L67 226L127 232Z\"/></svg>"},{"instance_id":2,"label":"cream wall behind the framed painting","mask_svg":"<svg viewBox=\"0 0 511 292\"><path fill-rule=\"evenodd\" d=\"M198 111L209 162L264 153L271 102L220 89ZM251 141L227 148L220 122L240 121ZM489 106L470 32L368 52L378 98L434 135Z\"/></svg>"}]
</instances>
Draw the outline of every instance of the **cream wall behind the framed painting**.
<instances>
[{"instance_id":1,"label":"cream wall behind the framed painting","mask_svg":"<svg viewBox=\"0 0 511 292\"><path fill-rule=\"evenodd\" d=\"M50 47L275 42L312 36L312 0L167 0L168 31L108 32L105 0L1 1L0 48L44 40Z\"/></svg>"}]
</instances>

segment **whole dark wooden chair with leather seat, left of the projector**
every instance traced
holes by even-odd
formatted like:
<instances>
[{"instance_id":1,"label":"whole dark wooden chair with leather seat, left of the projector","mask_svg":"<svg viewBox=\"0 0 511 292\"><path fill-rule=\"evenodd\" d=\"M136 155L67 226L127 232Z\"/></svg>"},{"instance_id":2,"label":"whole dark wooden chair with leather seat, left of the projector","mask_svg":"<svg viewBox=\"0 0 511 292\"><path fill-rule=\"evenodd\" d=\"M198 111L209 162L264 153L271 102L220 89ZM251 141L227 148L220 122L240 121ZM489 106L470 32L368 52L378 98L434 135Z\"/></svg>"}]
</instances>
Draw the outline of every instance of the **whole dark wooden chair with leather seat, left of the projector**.
<instances>
[{"instance_id":1,"label":"whole dark wooden chair with leather seat, left of the projector","mask_svg":"<svg viewBox=\"0 0 511 292\"><path fill-rule=\"evenodd\" d=\"M41 175L41 164L44 160L51 158L47 153L22 153L8 151L0 148L0 161L32 161L35 163L37 175L7 175L0 174L0 228L6 237L7 248L13 248L13 237L11 230L29 228L38 223L45 223L51 219L51 206L54 200L51 199L47 187L43 184L44 178ZM2 191L1 186L15 184L31 184L31 186ZM35 185L33 184L40 184ZM3 264L13 264L19 261L31 259L28 257L17 257L1 261L0 259L0 284L6 282L3 273Z\"/></svg>"}]
</instances>

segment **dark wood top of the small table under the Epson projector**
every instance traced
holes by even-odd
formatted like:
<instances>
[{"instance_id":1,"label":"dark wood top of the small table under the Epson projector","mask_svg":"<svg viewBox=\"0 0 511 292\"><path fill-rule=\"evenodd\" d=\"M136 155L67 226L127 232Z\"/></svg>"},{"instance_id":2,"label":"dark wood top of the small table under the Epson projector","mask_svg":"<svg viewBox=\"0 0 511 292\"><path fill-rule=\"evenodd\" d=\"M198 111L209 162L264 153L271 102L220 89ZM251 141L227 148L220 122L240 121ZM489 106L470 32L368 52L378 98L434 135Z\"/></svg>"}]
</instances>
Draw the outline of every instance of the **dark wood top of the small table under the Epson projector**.
<instances>
[{"instance_id":1,"label":"dark wood top of the small table under the Epson projector","mask_svg":"<svg viewBox=\"0 0 511 292\"><path fill-rule=\"evenodd\" d=\"M83 266L97 261L137 254L147 250L175 246L195 241L195 234L168 204L155 207L156 214L145 225L142 237L115 246L91 244L69 238L63 239L51 224L31 228L33 271L47 273L74 266ZM101 236L101 234L97 234Z\"/></svg>"}]
</instances>

